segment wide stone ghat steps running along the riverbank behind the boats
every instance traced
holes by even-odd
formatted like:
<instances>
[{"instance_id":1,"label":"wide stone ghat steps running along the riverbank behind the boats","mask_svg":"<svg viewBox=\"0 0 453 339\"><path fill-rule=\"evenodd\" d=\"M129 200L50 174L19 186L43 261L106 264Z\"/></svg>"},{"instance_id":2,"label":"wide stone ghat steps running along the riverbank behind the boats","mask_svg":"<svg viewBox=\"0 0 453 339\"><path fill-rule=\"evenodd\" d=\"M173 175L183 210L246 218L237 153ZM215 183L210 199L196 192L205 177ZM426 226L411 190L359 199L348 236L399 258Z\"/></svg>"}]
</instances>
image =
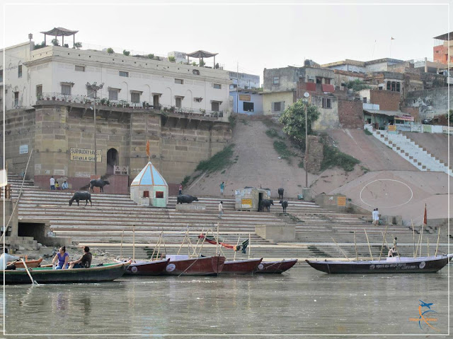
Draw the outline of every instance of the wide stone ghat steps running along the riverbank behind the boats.
<instances>
[{"instance_id":1,"label":"wide stone ghat steps running along the riverbank behind the boats","mask_svg":"<svg viewBox=\"0 0 453 339\"><path fill-rule=\"evenodd\" d=\"M13 188L13 198L17 198L22 184L20 177L8 176ZM279 203L271 206L270 213L242 212L234 210L234 199L222 197L224 216L218 219L219 198L199 198L206 205L206 210L176 210L176 196L169 198L168 208L149 208L137 206L129 196L122 194L91 194L93 206L85 207L85 202L69 206L69 199L74 192L50 191L33 186L33 182L23 182L23 192L18 203L19 222L21 220L45 220L50 223L57 237L71 237L77 244L87 244L93 248L107 251L113 256L132 256L134 240L136 258L149 258L156 248L159 235L164 231L164 242L160 252L180 254L193 252L193 247L180 246L186 231L191 244L197 244L197 236L202 230L217 232L222 242L236 244L250 237L251 246L246 255L236 252L236 258L251 256L265 258L312 258L342 257L343 252L350 258L355 257L354 230L357 252L360 257L369 257L369 247L364 229L367 230L372 255L379 256L382 246L382 232L385 227L373 226L371 215L352 215L330 212L315 203L289 201L288 213L282 213ZM255 234L255 225L294 225L296 241L279 243L266 241ZM418 231L420 227L415 227ZM134 230L134 232L133 232ZM404 254L413 252L413 232L405 226L389 226L386 240L392 243L398 237L398 246ZM415 241L418 233L415 233ZM423 243L429 239L431 254L435 250L437 233L435 229L423 232ZM447 234L441 234L441 242L446 243ZM200 249L201 243L198 244ZM446 251L445 246L440 246ZM202 254L215 253L215 246L203 244ZM384 256L386 255L384 250ZM408 252L408 253L406 253ZM231 250L224 250L228 257L234 256ZM423 249L425 254L425 249Z\"/></svg>"}]
</instances>

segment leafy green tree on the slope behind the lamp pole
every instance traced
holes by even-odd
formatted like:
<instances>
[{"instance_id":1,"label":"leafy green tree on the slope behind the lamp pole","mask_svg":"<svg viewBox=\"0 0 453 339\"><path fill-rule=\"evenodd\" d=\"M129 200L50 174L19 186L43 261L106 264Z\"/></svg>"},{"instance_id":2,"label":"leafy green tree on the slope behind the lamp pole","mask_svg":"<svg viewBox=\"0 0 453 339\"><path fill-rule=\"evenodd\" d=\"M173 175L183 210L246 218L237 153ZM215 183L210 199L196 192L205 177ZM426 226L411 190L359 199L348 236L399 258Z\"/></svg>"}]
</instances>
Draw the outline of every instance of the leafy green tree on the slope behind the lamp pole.
<instances>
[{"instance_id":1,"label":"leafy green tree on the slope behind the lamp pole","mask_svg":"<svg viewBox=\"0 0 453 339\"><path fill-rule=\"evenodd\" d=\"M289 106L280 115L279 122L283 124L283 131L288 136L297 141L302 147L305 145L305 106L307 106L307 117L308 117L308 133L312 134L311 124L319 119L321 113L318 108L314 105L306 104L299 99Z\"/></svg>"}]
</instances>

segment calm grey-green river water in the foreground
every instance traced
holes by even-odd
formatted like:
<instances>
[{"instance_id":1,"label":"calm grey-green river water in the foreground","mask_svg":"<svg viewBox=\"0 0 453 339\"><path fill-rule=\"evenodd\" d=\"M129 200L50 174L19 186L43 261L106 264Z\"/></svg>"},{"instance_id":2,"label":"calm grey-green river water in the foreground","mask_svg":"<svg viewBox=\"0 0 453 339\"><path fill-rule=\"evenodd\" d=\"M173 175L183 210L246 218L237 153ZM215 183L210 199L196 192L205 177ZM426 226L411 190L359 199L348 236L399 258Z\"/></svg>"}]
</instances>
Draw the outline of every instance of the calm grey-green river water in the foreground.
<instances>
[{"instance_id":1,"label":"calm grey-green river water in the foreground","mask_svg":"<svg viewBox=\"0 0 453 339\"><path fill-rule=\"evenodd\" d=\"M367 338L398 333L424 337L447 333L447 278L448 267L440 273L392 277L328 275L302 267L282 275L134 277L92 285L6 286L4 320L6 334L16 338L32 338L30 334L45 334L40 338L357 334L361 338L372 333L376 336ZM433 303L431 309L437 313L430 317L437 321L430 323L440 332L409 320L418 318L419 299Z\"/></svg>"}]
</instances>

